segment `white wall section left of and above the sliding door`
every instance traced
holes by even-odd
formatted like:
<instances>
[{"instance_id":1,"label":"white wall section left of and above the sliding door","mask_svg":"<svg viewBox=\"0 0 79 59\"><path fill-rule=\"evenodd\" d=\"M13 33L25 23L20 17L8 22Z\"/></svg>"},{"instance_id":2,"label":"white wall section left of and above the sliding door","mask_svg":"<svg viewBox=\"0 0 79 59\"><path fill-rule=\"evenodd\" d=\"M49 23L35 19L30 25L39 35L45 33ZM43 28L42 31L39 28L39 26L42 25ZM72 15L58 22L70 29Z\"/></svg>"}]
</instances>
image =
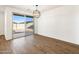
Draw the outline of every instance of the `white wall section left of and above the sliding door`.
<instances>
[{"instance_id":1,"label":"white wall section left of and above the sliding door","mask_svg":"<svg viewBox=\"0 0 79 59\"><path fill-rule=\"evenodd\" d=\"M6 7L5 8L5 37L6 37L6 40L12 39L12 14L13 13L32 15L32 13L28 13L27 11L23 11L23 10L11 8L11 7Z\"/></svg>"}]
</instances>

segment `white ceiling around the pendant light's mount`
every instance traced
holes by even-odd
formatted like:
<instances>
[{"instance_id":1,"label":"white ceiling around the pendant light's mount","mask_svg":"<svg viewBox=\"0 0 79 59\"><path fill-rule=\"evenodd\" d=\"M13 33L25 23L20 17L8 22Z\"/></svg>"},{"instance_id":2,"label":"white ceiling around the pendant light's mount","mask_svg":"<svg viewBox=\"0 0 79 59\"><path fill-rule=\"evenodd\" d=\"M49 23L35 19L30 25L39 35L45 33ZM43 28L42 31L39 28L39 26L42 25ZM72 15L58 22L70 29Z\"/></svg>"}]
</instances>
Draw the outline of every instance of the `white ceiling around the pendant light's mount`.
<instances>
[{"instance_id":1,"label":"white ceiling around the pendant light's mount","mask_svg":"<svg viewBox=\"0 0 79 59\"><path fill-rule=\"evenodd\" d=\"M35 5L6 5L6 6L22 9L24 11L35 10ZM53 9L56 7L59 7L59 5L38 5L38 10L43 12L43 11L47 11L48 9Z\"/></svg>"}]
</instances>

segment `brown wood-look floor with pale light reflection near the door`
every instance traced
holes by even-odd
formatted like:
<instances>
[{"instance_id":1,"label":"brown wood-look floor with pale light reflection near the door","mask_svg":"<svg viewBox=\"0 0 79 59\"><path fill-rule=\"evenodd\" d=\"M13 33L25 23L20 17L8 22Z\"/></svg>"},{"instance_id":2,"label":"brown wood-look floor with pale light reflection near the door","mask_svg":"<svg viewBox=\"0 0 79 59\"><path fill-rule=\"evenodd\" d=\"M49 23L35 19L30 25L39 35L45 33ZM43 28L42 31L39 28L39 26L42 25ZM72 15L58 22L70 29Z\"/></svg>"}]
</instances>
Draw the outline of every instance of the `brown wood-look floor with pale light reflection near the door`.
<instances>
[{"instance_id":1,"label":"brown wood-look floor with pale light reflection near the door","mask_svg":"<svg viewBox=\"0 0 79 59\"><path fill-rule=\"evenodd\" d=\"M13 40L0 37L0 54L78 54L79 46L40 35Z\"/></svg>"}]
</instances>

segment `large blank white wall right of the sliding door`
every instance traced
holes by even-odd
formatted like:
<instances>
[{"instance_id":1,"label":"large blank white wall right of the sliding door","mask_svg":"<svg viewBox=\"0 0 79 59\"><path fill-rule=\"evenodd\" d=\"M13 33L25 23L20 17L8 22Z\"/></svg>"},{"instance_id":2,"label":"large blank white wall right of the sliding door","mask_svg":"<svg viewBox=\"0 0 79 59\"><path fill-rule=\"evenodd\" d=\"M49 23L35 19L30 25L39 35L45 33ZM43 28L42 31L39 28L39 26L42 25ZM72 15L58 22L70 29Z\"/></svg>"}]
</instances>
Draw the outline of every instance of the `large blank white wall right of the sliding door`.
<instances>
[{"instance_id":1,"label":"large blank white wall right of the sliding door","mask_svg":"<svg viewBox=\"0 0 79 59\"><path fill-rule=\"evenodd\" d=\"M38 34L79 44L79 6L61 6L41 14Z\"/></svg>"}]
</instances>

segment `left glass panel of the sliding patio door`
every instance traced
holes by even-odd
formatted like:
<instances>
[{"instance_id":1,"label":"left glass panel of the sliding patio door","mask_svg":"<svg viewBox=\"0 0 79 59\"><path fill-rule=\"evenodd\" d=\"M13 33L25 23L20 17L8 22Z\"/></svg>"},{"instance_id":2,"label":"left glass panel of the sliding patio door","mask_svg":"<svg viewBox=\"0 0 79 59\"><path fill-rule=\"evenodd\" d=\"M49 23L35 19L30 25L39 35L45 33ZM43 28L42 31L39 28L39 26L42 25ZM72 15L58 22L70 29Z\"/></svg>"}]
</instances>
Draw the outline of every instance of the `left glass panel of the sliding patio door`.
<instances>
[{"instance_id":1,"label":"left glass panel of the sliding patio door","mask_svg":"<svg viewBox=\"0 0 79 59\"><path fill-rule=\"evenodd\" d=\"M13 15L13 39L25 36L26 17Z\"/></svg>"}]
</instances>

